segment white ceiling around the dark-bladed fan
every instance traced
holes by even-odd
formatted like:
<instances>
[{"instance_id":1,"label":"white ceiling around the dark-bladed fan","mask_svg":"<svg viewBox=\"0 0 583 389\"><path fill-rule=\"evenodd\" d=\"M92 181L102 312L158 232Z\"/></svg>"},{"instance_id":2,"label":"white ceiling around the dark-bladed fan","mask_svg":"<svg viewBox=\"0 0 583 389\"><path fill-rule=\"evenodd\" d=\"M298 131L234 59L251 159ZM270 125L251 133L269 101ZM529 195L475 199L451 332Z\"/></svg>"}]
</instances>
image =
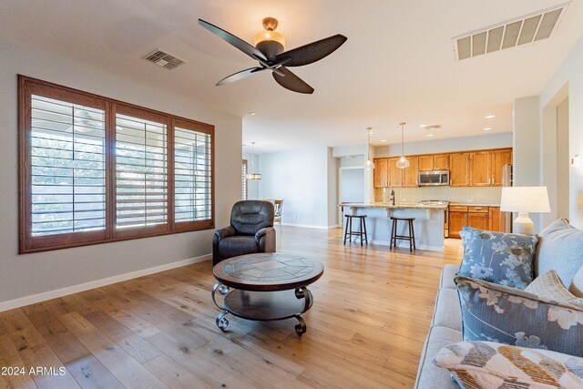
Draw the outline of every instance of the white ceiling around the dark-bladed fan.
<instances>
[{"instance_id":1,"label":"white ceiling around the dark-bladed fan","mask_svg":"<svg viewBox=\"0 0 583 389\"><path fill-rule=\"evenodd\" d=\"M173 90L243 118L256 151L425 140L508 132L512 100L537 95L583 35L573 0L551 39L455 61L451 38L561 0L43 0L0 2L0 39L73 57ZM203 18L252 43L261 19L280 20L286 48L340 33L348 41L293 71L312 87L301 95L267 72L215 87L255 64L197 24ZM34 23L31 23L34 21ZM186 61L168 71L140 59L162 48ZM1 54L0 54L1 55ZM249 116L249 112L256 112ZM496 118L486 119L487 114ZM386 139L387 143L381 143Z\"/></svg>"}]
</instances>

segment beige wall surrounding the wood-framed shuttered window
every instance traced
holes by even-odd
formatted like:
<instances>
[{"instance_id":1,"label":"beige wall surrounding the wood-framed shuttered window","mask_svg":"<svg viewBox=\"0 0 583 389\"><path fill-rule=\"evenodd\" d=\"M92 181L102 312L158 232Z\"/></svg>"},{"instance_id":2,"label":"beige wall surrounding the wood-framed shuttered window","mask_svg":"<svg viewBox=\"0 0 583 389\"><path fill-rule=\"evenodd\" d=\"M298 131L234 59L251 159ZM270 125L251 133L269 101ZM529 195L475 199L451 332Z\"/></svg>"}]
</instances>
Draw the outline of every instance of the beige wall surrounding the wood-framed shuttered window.
<instances>
[{"instance_id":1,"label":"beige wall surrounding the wood-framed shuttered window","mask_svg":"<svg viewBox=\"0 0 583 389\"><path fill-rule=\"evenodd\" d=\"M23 74L213 124L215 210L218 226L228 223L240 200L241 119L195 102L196 96L104 74L66 58L49 56L0 41L0 304L36 293L199 257L211 252L212 230L120 241L18 255L16 75ZM160 69L160 77L169 77Z\"/></svg>"}]
</instances>

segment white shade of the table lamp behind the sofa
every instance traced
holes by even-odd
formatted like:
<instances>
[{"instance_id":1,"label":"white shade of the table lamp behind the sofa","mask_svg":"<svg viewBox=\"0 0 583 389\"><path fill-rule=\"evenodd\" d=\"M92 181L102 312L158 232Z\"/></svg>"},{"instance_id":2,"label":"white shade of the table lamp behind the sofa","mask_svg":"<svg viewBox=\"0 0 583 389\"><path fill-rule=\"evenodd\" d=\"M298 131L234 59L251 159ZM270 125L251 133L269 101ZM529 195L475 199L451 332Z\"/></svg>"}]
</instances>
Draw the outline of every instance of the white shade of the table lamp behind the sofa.
<instances>
[{"instance_id":1,"label":"white shade of the table lamp behind the sofa","mask_svg":"<svg viewBox=\"0 0 583 389\"><path fill-rule=\"evenodd\" d=\"M547 187L503 187L500 210L503 212L550 212Z\"/></svg>"}]
</instances>

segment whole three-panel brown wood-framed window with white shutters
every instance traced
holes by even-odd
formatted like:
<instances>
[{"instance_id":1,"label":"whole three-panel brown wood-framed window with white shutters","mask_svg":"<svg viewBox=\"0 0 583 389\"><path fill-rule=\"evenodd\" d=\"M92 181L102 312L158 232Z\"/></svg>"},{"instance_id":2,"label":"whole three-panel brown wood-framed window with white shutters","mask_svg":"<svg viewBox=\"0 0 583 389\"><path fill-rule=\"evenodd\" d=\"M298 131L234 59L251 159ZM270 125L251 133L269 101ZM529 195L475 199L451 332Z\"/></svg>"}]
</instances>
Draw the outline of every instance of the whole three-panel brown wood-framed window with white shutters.
<instances>
[{"instance_id":1,"label":"whole three-panel brown wood-framed window with white shutters","mask_svg":"<svg viewBox=\"0 0 583 389\"><path fill-rule=\"evenodd\" d=\"M20 252L214 228L214 128L19 77Z\"/></svg>"}]
</instances>

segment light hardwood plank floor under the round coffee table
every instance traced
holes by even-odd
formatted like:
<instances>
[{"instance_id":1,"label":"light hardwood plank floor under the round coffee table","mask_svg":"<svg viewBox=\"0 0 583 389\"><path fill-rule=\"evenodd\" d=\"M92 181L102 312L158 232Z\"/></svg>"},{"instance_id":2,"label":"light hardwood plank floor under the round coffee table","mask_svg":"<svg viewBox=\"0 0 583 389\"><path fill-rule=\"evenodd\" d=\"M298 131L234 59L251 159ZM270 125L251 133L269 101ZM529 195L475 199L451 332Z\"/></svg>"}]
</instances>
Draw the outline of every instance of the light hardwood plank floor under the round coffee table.
<instances>
[{"instance_id":1,"label":"light hardwood plank floor under the round coffee table","mask_svg":"<svg viewBox=\"0 0 583 389\"><path fill-rule=\"evenodd\" d=\"M279 228L278 228L279 233ZM210 261L0 312L0 387L412 387L444 253L343 246L342 231L283 228L278 251L324 263L295 320L215 326ZM121 255L121 253L120 253ZM65 375L28 368L64 366Z\"/></svg>"}]
</instances>

